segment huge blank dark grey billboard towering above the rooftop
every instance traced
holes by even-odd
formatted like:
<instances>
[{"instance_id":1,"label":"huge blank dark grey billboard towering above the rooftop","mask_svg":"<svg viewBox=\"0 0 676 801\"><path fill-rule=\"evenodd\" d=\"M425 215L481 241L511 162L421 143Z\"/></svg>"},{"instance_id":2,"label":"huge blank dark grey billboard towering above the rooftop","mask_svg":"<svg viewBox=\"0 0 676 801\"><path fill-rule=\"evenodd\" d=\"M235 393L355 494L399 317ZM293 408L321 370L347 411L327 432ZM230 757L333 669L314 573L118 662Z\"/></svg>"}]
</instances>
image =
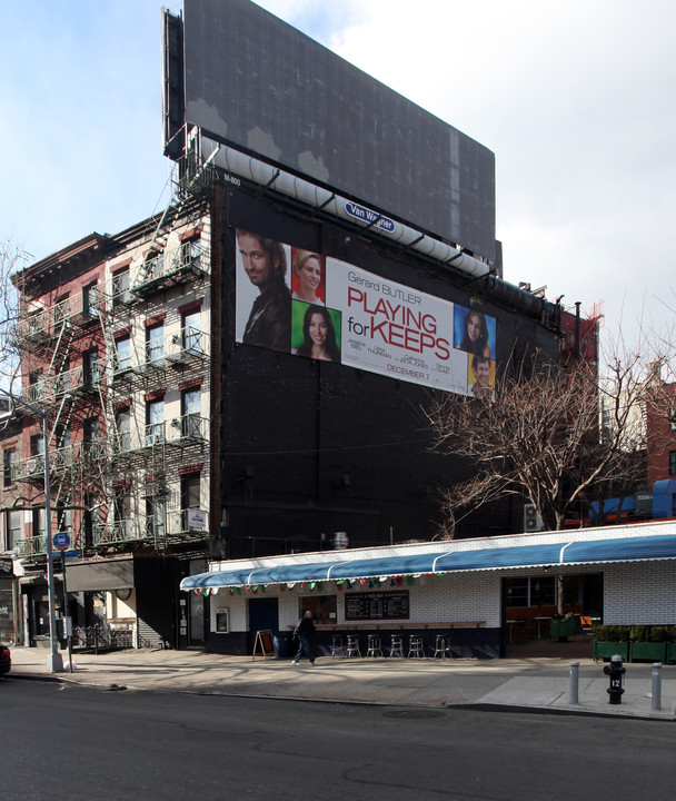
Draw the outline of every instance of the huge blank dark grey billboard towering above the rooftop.
<instances>
[{"instance_id":1,"label":"huge blank dark grey billboard towering above the rooftop","mask_svg":"<svg viewBox=\"0 0 676 801\"><path fill-rule=\"evenodd\" d=\"M186 120L495 258L495 157L250 0L185 0Z\"/></svg>"}]
</instances>

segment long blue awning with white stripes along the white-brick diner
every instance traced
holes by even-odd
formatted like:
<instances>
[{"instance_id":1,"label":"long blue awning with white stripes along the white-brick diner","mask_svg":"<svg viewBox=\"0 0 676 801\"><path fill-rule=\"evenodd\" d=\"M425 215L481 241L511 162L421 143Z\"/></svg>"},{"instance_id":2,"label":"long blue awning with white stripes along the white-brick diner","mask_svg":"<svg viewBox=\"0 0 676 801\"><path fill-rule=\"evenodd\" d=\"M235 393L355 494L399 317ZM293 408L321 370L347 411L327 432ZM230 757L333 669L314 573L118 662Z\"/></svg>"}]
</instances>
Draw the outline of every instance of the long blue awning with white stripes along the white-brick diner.
<instances>
[{"instance_id":1,"label":"long blue awning with white stripes along the white-brick diner","mask_svg":"<svg viewBox=\"0 0 676 801\"><path fill-rule=\"evenodd\" d=\"M466 541L465 541L466 542ZM546 567L558 564L593 564L639 560L676 558L676 536L561 541L539 545L516 545L477 550L445 550L399 554L377 558L331 560L236 570L220 570L188 576L181 590L246 587L298 582L389 578L430 573Z\"/></svg>"}]
</instances>

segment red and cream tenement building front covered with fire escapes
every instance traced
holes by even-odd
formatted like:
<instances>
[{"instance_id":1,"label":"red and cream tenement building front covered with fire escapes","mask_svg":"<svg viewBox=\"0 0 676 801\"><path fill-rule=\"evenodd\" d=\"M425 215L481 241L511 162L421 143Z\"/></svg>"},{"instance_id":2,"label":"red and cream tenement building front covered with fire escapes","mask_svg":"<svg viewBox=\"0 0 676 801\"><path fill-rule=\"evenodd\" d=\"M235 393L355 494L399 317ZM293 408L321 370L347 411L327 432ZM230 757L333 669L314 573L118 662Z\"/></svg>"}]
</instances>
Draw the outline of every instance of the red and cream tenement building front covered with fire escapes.
<instances>
[{"instance_id":1,"label":"red and cream tenement building front covered with fire escapes","mask_svg":"<svg viewBox=\"0 0 676 801\"><path fill-rule=\"evenodd\" d=\"M191 627L176 586L206 564L209 530L208 207L186 196L161 217L57 251L14 284L21 392L2 443L3 550L24 613L14 639L49 637L47 458L49 530L68 543L68 562L54 562L59 616L72 619L76 640L201 644L201 607Z\"/></svg>"}]
</instances>

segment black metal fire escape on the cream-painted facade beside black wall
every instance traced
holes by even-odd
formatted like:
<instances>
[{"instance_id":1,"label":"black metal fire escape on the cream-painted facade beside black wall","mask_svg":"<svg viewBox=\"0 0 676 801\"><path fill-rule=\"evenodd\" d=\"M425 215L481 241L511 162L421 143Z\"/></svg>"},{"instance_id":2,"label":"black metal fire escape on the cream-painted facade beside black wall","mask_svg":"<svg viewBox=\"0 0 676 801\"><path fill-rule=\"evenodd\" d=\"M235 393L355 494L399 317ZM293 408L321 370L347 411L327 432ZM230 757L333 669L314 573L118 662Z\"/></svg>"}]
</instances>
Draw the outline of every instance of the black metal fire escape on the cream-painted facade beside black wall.
<instances>
[{"instance_id":1,"label":"black metal fire escape on the cream-painted facade beside black wall","mask_svg":"<svg viewBox=\"0 0 676 801\"><path fill-rule=\"evenodd\" d=\"M208 238L190 234L201 230L205 210L203 192L178 192L142 258L113 269L99 305L108 432L108 515L93 532L101 550L136 543L165 551L208 532L207 513L188 504L180 476L208 464L209 421L199 394L181 387L208 385L209 327L206 315L181 314L178 301L191 297L201 309L209 289Z\"/></svg>"}]
</instances>

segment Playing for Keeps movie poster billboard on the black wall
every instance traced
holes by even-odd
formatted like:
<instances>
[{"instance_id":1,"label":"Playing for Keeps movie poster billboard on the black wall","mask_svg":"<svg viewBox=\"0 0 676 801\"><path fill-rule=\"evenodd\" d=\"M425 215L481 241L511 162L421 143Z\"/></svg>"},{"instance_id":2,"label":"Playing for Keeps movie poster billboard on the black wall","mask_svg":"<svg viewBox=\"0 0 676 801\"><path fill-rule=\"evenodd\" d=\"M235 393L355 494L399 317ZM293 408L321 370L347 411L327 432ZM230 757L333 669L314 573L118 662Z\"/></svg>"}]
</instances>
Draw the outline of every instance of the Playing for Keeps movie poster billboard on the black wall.
<instances>
[{"instance_id":1,"label":"Playing for Keeps movie poster billboard on the black wall","mask_svg":"<svg viewBox=\"0 0 676 801\"><path fill-rule=\"evenodd\" d=\"M495 317L237 229L236 339L491 398Z\"/></svg>"}]
</instances>

